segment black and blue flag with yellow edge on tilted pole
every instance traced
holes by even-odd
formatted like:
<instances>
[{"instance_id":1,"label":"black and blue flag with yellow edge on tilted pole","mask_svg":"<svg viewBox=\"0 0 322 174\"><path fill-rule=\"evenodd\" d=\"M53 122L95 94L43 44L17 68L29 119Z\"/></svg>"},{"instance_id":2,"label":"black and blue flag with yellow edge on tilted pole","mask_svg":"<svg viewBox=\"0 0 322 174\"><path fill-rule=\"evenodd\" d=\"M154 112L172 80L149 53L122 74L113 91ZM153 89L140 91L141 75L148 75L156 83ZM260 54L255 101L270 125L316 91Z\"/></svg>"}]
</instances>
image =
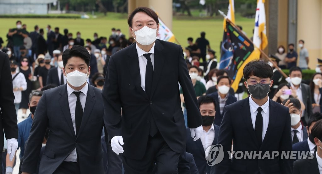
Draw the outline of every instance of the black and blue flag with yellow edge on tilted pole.
<instances>
[{"instance_id":1,"label":"black and blue flag with yellow edge on tilted pole","mask_svg":"<svg viewBox=\"0 0 322 174\"><path fill-rule=\"evenodd\" d=\"M243 77L243 69L251 60L259 56L254 51L251 41L241 34L231 23L226 21L226 29L221 44L220 69L226 69L232 78L232 88L236 91Z\"/></svg>"}]
</instances>

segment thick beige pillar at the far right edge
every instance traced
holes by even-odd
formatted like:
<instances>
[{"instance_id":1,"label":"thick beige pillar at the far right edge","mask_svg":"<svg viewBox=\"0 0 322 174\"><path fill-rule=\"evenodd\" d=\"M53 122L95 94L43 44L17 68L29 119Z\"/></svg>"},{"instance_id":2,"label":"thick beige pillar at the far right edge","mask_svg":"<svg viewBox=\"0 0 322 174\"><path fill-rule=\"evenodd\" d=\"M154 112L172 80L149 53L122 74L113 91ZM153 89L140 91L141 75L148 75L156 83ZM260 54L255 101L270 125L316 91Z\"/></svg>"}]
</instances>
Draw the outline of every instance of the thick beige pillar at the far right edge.
<instances>
[{"instance_id":1,"label":"thick beige pillar at the far right edge","mask_svg":"<svg viewBox=\"0 0 322 174\"><path fill-rule=\"evenodd\" d=\"M309 54L309 68L315 69L317 58L322 55L321 0L298 1L297 42L302 39ZM297 47L299 52L300 48Z\"/></svg>"}]
</instances>

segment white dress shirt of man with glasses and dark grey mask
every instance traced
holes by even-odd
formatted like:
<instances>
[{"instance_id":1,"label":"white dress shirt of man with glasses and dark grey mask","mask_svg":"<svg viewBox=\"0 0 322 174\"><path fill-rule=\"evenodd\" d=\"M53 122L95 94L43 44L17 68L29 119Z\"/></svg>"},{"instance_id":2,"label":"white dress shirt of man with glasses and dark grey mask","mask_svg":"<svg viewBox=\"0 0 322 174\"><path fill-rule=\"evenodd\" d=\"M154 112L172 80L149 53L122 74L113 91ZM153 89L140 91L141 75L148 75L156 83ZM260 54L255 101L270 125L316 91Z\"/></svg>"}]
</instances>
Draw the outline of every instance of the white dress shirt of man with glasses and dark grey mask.
<instances>
[{"instance_id":1,"label":"white dress shirt of man with glasses and dark grey mask","mask_svg":"<svg viewBox=\"0 0 322 174\"><path fill-rule=\"evenodd\" d=\"M257 108L261 107L263 109L261 112L263 116L263 132L262 132L262 141L263 141L267 131L268 122L270 120L270 100L267 99L267 102L264 105L259 106L254 102L254 100L251 97L249 97L249 106L251 108L251 122L253 124L254 130L255 130L256 115L258 113Z\"/></svg>"}]
</instances>

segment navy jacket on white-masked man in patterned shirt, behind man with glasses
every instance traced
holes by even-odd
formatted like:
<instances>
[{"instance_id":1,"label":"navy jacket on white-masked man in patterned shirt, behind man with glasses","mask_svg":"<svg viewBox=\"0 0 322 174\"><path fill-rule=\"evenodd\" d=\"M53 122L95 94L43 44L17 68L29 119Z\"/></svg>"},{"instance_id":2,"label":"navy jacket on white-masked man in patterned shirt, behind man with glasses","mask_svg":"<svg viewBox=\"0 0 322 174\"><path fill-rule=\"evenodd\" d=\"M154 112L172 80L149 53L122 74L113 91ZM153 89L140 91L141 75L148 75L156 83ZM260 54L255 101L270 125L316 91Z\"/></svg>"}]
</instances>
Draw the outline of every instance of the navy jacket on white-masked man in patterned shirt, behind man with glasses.
<instances>
[{"instance_id":1,"label":"navy jacket on white-masked man in patterned shirt, behind man with glasses","mask_svg":"<svg viewBox=\"0 0 322 174\"><path fill-rule=\"evenodd\" d=\"M215 120L213 121L213 123L220 126L220 124L223 120L224 111L223 111L223 114L220 114L218 91L216 91L212 94L208 94L208 96L213 97L213 99L215 100L215 103L216 103L216 115L215 115ZM234 95L229 94L225 106L230 105L235 102L237 102L237 98Z\"/></svg>"}]
</instances>

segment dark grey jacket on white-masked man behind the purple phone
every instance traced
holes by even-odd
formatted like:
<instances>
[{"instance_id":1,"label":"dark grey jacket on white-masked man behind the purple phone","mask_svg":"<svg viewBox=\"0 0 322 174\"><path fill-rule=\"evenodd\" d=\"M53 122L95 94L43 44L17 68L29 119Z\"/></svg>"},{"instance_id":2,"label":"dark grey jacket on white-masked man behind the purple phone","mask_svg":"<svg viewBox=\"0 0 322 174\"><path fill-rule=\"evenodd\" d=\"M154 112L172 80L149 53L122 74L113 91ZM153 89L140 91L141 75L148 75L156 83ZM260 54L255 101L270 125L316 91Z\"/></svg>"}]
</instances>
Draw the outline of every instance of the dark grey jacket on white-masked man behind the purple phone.
<instances>
[{"instance_id":1,"label":"dark grey jacket on white-masked man behind the purple phone","mask_svg":"<svg viewBox=\"0 0 322 174\"><path fill-rule=\"evenodd\" d=\"M289 84L291 85L291 84ZM303 98L303 103L305 105L305 113L304 113L304 120L303 124L306 126L306 123L308 122L308 119L310 117L310 115L312 115L312 97L311 97L311 90L310 90L310 86L308 86L307 84L301 83L301 87L302 87L302 98Z\"/></svg>"}]
</instances>

